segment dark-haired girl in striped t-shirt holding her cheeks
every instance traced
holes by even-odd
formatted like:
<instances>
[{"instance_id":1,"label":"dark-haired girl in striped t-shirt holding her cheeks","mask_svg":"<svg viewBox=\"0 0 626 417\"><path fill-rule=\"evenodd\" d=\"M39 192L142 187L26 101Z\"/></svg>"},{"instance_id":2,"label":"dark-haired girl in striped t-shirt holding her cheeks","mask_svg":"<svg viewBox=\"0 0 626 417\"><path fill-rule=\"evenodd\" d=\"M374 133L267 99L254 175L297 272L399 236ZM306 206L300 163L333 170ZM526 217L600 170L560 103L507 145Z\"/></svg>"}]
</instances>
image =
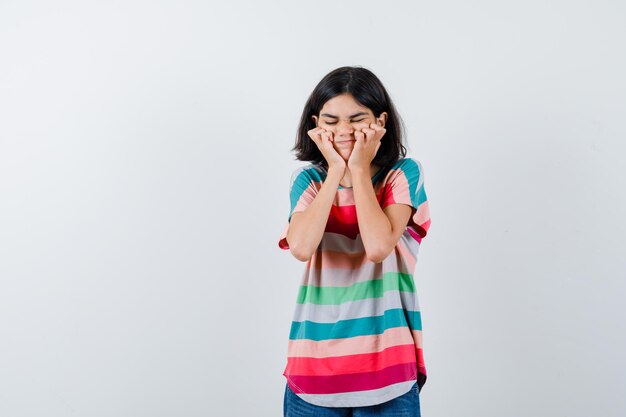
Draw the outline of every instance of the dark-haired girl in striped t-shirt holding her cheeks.
<instances>
[{"instance_id":1,"label":"dark-haired girl in striped t-shirt holding her cheeks","mask_svg":"<svg viewBox=\"0 0 626 417\"><path fill-rule=\"evenodd\" d=\"M306 262L289 335L285 416L419 416L426 382L413 272L430 227L424 173L362 67L307 100L279 247Z\"/></svg>"}]
</instances>

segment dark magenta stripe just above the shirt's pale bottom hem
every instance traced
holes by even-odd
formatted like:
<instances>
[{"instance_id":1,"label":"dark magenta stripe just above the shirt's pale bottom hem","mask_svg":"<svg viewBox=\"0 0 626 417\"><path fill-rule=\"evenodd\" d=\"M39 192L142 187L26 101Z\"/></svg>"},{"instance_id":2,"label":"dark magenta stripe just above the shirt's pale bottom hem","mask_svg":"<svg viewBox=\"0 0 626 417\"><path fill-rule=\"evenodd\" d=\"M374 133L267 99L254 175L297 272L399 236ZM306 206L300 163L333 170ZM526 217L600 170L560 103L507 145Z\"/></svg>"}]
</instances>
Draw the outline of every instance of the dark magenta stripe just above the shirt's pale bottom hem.
<instances>
[{"instance_id":1,"label":"dark magenta stripe just above the shirt's pale bottom hem","mask_svg":"<svg viewBox=\"0 0 626 417\"><path fill-rule=\"evenodd\" d=\"M333 376L285 375L289 387L299 394L336 394L365 391L417 379L415 362L390 366L375 372Z\"/></svg>"}]
</instances>

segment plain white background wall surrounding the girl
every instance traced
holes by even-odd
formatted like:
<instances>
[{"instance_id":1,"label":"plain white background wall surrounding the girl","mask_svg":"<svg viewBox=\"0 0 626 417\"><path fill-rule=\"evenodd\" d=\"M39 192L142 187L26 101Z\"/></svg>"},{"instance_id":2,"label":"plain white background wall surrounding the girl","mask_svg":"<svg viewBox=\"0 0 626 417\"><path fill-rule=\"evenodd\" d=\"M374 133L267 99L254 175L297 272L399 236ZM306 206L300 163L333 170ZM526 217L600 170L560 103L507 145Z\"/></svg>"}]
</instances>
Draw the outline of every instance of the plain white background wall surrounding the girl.
<instances>
[{"instance_id":1,"label":"plain white background wall surrounding the girl","mask_svg":"<svg viewBox=\"0 0 626 417\"><path fill-rule=\"evenodd\" d=\"M0 1L0 415L282 415L306 98L423 164L422 415L626 414L620 1Z\"/></svg>"}]
</instances>

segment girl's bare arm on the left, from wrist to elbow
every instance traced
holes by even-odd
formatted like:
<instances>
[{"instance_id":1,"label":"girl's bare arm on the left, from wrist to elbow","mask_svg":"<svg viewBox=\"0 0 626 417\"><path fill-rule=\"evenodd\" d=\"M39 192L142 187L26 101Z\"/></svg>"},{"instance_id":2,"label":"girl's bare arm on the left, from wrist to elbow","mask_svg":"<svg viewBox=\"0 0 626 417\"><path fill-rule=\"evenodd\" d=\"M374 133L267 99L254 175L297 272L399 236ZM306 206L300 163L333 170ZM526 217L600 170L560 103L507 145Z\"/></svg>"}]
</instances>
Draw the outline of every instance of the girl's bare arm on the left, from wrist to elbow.
<instances>
[{"instance_id":1,"label":"girl's bare arm on the left, from wrist to elbow","mask_svg":"<svg viewBox=\"0 0 626 417\"><path fill-rule=\"evenodd\" d=\"M304 211L293 213L291 216L287 242L291 254L296 259L308 261L317 250L342 176L343 172L340 169L330 168L313 202Z\"/></svg>"}]
</instances>

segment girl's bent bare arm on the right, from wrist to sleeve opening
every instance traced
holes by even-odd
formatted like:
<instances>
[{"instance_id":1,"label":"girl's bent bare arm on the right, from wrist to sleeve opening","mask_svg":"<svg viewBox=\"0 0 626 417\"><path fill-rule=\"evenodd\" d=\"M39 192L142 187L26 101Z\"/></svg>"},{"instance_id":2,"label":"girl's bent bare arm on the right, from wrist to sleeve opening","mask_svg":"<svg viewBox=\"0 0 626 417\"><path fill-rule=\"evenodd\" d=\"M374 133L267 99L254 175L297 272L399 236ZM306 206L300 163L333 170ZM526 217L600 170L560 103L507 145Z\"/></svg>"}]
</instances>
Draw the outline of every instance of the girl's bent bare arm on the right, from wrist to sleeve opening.
<instances>
[{"instance_id":1,"label":"girl's bent bare arm on the right, from wrist to sleeve opening","mask_svg":"<svg viewBox=\"0 0 626 417\"><path fill-rule=\"evenodd\" d=\"M354 203L365 253L372 262L382 262L398 243L413 212L406 204L381 209L369 172L352 171Z\"/></svg>"}]
</instances>

